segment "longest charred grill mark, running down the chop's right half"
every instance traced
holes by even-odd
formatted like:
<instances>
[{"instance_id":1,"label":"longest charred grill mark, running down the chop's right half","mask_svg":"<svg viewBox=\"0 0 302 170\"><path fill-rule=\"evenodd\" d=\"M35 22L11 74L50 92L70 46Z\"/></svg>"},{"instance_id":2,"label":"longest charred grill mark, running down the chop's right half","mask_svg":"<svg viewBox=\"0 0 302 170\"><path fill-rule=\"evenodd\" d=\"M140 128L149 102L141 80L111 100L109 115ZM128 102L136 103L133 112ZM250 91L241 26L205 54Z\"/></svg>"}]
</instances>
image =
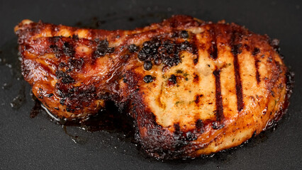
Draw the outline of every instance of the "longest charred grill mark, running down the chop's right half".
<instances>
[{"instance_id":1,"label":"longest charred grill mark, running down the chop's right half","mask_svg":"<svg viewBox=\"0 0 302 170\"><path fill-rule=\"evenodd\" d=\"M243 96L242 96L242 82L240 77L240 65L238 62L238 55L242 52L240 50L240 47L242 44L235 44L235 38L240 37L239 35L235 35L233 33L231 40L230 40L230 46L231 46L231 52L234 57L234 72L235 72L235 83L236 83L236 96L237 96L237 111L240 112L243 109Z\"/></svg>"}]
</instances>

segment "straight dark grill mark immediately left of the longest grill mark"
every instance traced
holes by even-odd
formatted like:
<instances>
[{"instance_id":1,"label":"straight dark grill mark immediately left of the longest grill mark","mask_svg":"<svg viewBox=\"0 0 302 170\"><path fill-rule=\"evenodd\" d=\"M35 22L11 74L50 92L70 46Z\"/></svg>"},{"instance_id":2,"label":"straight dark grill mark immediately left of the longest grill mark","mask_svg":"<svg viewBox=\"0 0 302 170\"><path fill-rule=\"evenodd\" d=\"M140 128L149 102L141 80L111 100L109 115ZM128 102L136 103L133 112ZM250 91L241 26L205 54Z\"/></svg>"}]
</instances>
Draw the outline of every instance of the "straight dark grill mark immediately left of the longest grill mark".
<instances>
[{"instance_id":1,"label":"straight dark grill mark immediately left of the longest grill mark","mask_svg":"<svg viewBox=\"0 0 302 170\"><path fill-rule=\"evenodd\" d=\"M215 96L216 96L216 120L222 122L224 120L223 115L223 98L221 96L221 85L220 85L220 69L215 69L213 72L215 77Z\"/></svg>"}]
</instances>

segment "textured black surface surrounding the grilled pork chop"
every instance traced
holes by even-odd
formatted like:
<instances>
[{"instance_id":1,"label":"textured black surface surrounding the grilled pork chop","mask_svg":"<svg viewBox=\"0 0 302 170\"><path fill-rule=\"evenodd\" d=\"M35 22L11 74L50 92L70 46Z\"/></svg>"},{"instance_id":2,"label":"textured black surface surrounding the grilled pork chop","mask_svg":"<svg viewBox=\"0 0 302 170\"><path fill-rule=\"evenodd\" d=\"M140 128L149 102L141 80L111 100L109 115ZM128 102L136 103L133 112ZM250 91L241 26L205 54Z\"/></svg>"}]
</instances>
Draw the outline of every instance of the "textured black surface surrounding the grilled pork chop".
<instances>
[{"instance_id":1,"label":"textured black surface surrounding the grilled pork chop","mask_svg":"<svg viewBox=\"0 0 302 170\"><path fill-rule=\"evenodd\" d=\"M269 130L242 147L206 159L159 162L141 154L123 132L67 127L67 134L45 112L29 117L34 102L30 86L17 69L13 27L18 22L28 18L114 30L147 26L173 14L214 22L225 19L281 40L281 53L296 74L296 84L289 111L274 132ZM302 169L301 1L1 0L0 18L1 169ZM20 106L11 108L16 96Z\"/></svg>"}]
</instances>

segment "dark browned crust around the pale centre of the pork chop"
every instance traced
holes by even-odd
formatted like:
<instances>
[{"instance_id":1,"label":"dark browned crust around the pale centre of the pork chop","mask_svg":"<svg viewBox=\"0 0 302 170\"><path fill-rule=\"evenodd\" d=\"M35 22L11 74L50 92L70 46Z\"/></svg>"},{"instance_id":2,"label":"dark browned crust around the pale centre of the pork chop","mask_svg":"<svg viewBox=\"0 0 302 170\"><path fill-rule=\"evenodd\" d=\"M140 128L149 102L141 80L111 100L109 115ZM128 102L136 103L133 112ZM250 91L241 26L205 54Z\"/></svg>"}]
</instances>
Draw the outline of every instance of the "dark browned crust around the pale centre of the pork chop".
<instances>
[{"instance_id":1,"label":"dark browned crust around the pale centre of the pork chop","mask_svg":"<svg viewBox=\"0 0 302 170\"><path fill-rule=\"evenodd\" d=\"M192 28L205 29L210 35L208 43L198 42L196 33L190 33L187 41L177 37L182 30ZM16 26L15 32L18 35L19 50L23 57L23 77L33 86L33 94L52 113L68 120L84 119L97 113L104 107L105 101L114 101L118 106L128 108L129 115L135 119L136 140L141 143L147 154L158 159L198 157L201 154L210 154L240 145L254 133L257 135L278 121L289 105L291 74L282 60L277 62L280 56L276 54L276 47L270 44L271 40L267 35L256 35L234 23L213 24L189 16L173 16L162 23L155 23L145 28L108 31L23 21ZM114 47L108 45L108 42L114 44ZM163 45L167 42L167 45L172 46L173 52L168 52L168 58L159 57L160 61L140 58L138 55L143 50L143 42L150 42L151 45L160 43L161 46L158 48L163 48L162 53L166 52ZM140 51L129 49L130 45L134 44ZM221 44L225 45L225 48L222 48ZM216 65L212 73L216 88L215 118L201 120L196 117L194 125L190 126L194 128L184 128L179 122L174 122L169 127L160 124L156 115L152 113L150 103L147 103L147 89L144 85L157 81L157 78L148 75L148 79L144 79L146 75L145 70L142 69L142 62L148 60L157 67L163 67L162 72L167 72L168 69L179 64L179 59L174 60L179 57L177 56L179 51L191 53L194 56L192 63L197 65L202 62L199 60L198 50L207 51L208 57L215 62L219 60L220 50L225 50L227 47L233 55L237 120L229 123L230 120L225 118L220 82L220 70L225 66ZM257 49L269 53L269 57L263 59L260 55L262 52ZM259 118L261 123L252 122L253 115L247 114L244 109L245 98L250 97L253 101L257 98L244 96L242 93L240 74L244 71L240 69L242 65L239 59L242 51L250 52L254 57L255 81L257 84L264 83L264 90L268 91L264 96L267 101L259 103L259 108L266 107L269 112L261 115ZM162 55L162 53L158 52L155 55ZM167 55L166 53L164 55ZM165 59L171 61L164 61ZM267 71L267 75L261 75L259 71L261 61L271 68ZM177 86L179 79L184 78L170 77L167 86ZM194 73L192 82L197 85L200 79L202 77L199 73ZM202 94L196 96L194 101L196 106L200 105L201 97ZM276 99L278 102L275 101ZM274 105L272 101L275 101ZM226 137L238 135L241 130L253 131L231 145L223 145L229 140L225 140Z\"/></svg>"}]
</instances>

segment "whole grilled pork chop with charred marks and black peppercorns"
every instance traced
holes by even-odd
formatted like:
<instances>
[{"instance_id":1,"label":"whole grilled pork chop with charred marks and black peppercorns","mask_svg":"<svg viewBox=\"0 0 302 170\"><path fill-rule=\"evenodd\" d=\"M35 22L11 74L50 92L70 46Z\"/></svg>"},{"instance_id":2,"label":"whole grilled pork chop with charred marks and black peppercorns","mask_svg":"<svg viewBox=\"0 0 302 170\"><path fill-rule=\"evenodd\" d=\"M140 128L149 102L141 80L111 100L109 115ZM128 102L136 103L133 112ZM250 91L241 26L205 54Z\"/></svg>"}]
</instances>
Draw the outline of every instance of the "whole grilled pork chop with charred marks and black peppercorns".
<instances>
[{"instance_id":1,"label":"whole grilled pork chop with charred marks and black peppercorns","mask_svg":"<svg viewBox=\"0 0 302 170\"><path fill-rule=\"evenodd\" d=\"M111 31L24 20L15 32L23 77L50 112L83 120L114 101L159 159L240 145L288 106L278 40L234 23L173 16Z\"/></svg>"}]
</instances>

